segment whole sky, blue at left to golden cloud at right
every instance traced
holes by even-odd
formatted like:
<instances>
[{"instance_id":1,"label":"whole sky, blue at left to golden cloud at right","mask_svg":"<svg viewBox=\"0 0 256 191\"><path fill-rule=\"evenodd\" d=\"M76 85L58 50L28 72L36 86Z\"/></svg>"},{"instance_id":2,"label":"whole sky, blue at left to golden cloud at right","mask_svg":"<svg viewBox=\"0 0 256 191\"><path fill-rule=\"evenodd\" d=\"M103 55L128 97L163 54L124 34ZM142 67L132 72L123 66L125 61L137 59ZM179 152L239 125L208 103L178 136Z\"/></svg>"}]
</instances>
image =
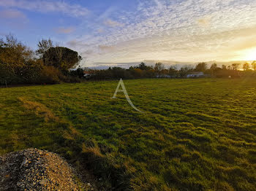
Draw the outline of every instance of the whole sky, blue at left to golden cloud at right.
<instances>
[{"instance_id":1,"label":"whole sky, blue at left to golden cloud at right","mask_svg":"<svg viewBox=\"0 0 256 191\"><path fill-rule=\"evenodd\" d=\"M0 0L0 35L83 64L256 60L256 0Z\"/></svg>"}]
</instances>

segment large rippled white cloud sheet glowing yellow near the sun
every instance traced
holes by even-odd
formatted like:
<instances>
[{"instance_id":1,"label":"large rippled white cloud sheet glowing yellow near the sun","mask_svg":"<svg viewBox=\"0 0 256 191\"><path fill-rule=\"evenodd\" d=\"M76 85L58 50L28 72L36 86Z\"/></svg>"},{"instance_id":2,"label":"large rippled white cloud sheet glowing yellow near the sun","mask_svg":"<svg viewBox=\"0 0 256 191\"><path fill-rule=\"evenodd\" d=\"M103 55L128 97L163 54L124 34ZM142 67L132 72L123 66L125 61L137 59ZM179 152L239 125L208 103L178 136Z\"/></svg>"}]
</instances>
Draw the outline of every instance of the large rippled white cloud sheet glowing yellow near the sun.
<instances>
[{"instance_id":1,"label":"large rippled white cloud sheet glowing yellow near the sun","mask_svg":"<svg viewBox=\"0 0 256 191\"><path fill-rule=\"evenodd\" d=\"M94 52L88 61L225 61L237 58L235 49L256 47L254 0L140 0L135 12L110 10L101 17L108 27L94 23L95 34L75 44L84 56Z\"/></svg>"}]
</instances>

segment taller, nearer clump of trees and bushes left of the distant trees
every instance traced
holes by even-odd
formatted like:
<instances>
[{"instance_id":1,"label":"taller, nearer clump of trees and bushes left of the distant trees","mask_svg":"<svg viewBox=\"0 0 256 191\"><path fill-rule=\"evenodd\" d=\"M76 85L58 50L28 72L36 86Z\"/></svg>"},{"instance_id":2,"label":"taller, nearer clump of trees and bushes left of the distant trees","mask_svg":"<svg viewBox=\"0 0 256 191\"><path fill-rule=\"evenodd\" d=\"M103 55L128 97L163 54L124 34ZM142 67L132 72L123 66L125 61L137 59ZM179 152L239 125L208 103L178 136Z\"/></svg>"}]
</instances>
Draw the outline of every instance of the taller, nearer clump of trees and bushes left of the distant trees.
<instances>
[{"instance_id":1,"label":"taller, nearer clump of trees and bushes left of the distant trees","mask_svg":"<svg viewBox=\"0 0 256 191\"><path fill-rule=\"evenodd\" d=\"M0 39L0 85L79 82L69 69L81 60L78 52L50 39L39 41L33 51L10 34Z\"/></svg>"}]
</instances>

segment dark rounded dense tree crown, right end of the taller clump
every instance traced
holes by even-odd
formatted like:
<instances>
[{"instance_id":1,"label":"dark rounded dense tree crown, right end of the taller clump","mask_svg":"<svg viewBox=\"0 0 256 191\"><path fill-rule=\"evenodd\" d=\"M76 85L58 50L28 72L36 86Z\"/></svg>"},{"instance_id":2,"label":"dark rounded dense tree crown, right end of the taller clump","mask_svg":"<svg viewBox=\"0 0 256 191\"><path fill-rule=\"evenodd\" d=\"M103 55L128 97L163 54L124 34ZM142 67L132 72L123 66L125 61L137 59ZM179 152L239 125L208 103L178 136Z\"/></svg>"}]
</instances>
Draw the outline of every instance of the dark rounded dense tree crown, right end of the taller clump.
<instances>
[{"instance_id":1,"label":"dark rounded dense tree crown, right end of the taller clump","mask_svg":"<svg viewBox=\"0 0 256 191\"><path fill-rule=\"evenodd\" d=\"M42 56L46 66L54 66L61 71L75 68L81 60L78 52L67 47L50 47Z\"/></svg>"}]
</instances>

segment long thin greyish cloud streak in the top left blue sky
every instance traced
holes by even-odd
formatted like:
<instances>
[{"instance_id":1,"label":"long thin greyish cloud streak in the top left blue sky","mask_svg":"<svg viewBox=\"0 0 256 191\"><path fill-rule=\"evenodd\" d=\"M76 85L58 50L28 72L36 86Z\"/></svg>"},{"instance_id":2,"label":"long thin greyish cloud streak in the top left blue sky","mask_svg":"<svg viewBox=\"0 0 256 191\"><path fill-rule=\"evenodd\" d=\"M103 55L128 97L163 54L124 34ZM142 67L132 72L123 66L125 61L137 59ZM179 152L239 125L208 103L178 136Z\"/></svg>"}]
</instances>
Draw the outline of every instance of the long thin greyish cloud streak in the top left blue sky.
<instances>
[{"instance_id":1,"label":"long thin greyish cloud streak in the top left blue sky","mask_svg":"<svg viewBox=\"0 0 256 191\"><path fill-rule=\"evenodd\" d=\"M70 17L83 17L89 14L89 10L79 4L53 0L1 0L0 7L26 9L33 12L61 12Z\"/></svg>"}]
</instances>

